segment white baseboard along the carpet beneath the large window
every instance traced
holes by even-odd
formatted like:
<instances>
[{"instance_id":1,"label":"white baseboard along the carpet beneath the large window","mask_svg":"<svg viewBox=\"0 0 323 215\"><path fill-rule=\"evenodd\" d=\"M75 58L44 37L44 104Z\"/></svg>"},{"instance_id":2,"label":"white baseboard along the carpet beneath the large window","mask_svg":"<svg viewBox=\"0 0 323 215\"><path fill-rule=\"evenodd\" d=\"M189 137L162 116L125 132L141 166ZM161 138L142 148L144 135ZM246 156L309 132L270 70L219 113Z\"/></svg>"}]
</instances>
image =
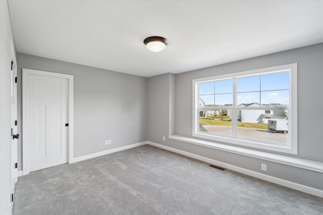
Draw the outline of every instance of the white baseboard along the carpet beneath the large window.
<instances>
[{"instance_id":1,"label":"white baseboard along the carpet beneath the large window","mask_svg":"<svg viewBox=\"0 0 323 215\"><path fill-rule=\"evenodd\" d=\"M194 158L194 159L197 159L197 160L200 160L200 161L204 161L204 162L209 163L209 164L221 166L221 167L224 167L224 168L227 168L227 169L239 172L239 173L243 173L243 174L255 177L255 178L259 178L259 179L262 179L262 180L265 180L265 181L269 181L269 182L272 182L272 183L275 183L275 184L279 184L279 185L289 187L289 188L292 188L292 189L295 189L295 190L299 190L299 191L302 191L302 192L305 192L305 193L309 193L311 195L323 197L323 190L320 190L320 189L316 189L316 188L313 188L313 187L308 187L308 186L305 186L305 185L302 185L302 184L297 184L297 183L294 183L294 182L291 182L291 181L287 181L287 180L284 180L284 179L280 179L280 178L265 175L265 174L262 174L262 173L254 172L254 171L247 170L247 169L244 169L244 168L241 168L241 167L233 166L233 165L230 165L230 164L227 164L227 163L223 163L223 162L220 162L220 161L216 161L216 160L213 160L213 159L209 159L209 158L205 158L205 157L202 157L202 156L199 156L199 155L188 153L188 152L185 152L185 151L182 151L182 150L178 150L178 149L174 149L174 148L171 148L171 147L159 145L159 144L156 144L155 142L147 141L147 144L151 145L151 146L154 146L154 147L161 148L161 149L165 149L165 150L168 150L168 151L171 151L171 152L175 152L175 153L178 153L178 154L190 157L190 158Z\"/></svg>"}]
</instances>

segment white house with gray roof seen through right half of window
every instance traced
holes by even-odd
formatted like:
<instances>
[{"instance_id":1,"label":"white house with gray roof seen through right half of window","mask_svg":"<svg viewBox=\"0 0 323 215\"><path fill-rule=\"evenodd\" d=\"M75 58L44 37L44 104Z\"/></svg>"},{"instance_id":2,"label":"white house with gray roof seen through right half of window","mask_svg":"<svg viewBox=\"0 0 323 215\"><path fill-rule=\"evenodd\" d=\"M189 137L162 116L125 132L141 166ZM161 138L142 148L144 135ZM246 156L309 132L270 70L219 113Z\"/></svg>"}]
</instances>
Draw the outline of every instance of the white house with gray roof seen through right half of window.
<instances>
[{"instance_id":1,"label":"white house with gray roof seen through right half of window","mask_svg":"<svg viewBox=\"0 0 323 215\"><path fill-rule=\"evenodd\" d=\"M284 106L281 104L263 104L251 103L251 104L240 104L238 107L275 107ZM282 120L286 119L287 112L284 110L239 110L238 120L241 122L252 122L252 123L268 123L268 119Z\"/></svg>"}]
</instances>

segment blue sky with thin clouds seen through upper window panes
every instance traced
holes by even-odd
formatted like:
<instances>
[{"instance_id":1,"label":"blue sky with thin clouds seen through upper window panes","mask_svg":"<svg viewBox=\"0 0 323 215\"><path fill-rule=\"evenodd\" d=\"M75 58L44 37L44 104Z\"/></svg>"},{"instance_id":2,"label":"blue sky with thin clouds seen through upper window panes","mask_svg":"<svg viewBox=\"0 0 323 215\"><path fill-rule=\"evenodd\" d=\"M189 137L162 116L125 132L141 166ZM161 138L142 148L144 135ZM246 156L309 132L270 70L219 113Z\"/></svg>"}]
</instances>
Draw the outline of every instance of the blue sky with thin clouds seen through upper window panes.
<instances>
[{"instance_id":1,"label":"blue sky with thin clouds seen through upper window panes","mask_svg":"<svg viewBox=\"0 0 323 215\"><path fill-rule=\"evenodd\" d=\"M224 80L199 84L200 98L205 105L232 104L233 81ZM237 104L280 103L289 105L289 73L237 79Z\"/></svg>"}]
</instances>

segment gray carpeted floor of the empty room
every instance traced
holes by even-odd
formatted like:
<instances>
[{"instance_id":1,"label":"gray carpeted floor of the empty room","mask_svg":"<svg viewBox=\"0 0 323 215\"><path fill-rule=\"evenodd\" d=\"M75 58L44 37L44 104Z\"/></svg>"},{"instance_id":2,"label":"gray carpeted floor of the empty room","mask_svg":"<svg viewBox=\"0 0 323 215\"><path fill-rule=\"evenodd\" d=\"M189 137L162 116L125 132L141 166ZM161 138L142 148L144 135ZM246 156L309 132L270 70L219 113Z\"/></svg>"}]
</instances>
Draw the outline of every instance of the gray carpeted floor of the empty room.
<instances>
[{"instance_id":1,"label":"gray carpeted floor of the empty room","mask_svg":"<svg viewBox=\"0 0 323 215\"><path fill-rule=\"evenodd\" d=\"M13 214L323 214L323 198L145 145L20 177Z\"/></svg>"}]
</instances>

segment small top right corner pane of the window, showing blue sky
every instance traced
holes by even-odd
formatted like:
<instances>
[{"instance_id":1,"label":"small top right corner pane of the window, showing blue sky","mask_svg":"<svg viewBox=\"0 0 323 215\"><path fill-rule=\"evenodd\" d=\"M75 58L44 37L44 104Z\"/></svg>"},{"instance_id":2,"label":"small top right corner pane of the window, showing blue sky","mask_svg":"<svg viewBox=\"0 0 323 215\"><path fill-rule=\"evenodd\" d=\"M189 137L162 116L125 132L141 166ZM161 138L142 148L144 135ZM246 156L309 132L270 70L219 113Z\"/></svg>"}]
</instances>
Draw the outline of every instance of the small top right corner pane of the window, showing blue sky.
<instances>
[{"instance_id":1,"label":"small top right corner pane of the window, showing blue sky","mask_svg":"<svg viewBox=\"0 0 323 215\"><path fill-rule=\"evenodd\" d=\"M261 91L264 90L288 90L289 73L277 73L261 76Z\"/></svg>"}]
</instances>

